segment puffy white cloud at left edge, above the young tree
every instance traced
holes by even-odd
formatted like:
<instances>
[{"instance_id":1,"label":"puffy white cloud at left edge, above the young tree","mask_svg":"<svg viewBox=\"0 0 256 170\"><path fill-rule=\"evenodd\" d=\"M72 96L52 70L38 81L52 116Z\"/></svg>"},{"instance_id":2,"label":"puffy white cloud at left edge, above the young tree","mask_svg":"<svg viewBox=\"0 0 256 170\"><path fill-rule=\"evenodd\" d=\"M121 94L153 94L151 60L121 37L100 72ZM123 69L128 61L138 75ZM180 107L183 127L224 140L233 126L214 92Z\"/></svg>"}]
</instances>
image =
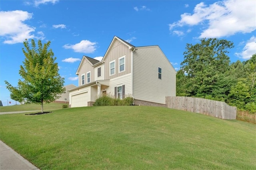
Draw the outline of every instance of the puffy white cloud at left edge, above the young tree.
<instances>
[{"instance_id":1,"label":"puffy white cloud at left edge, above the young tree","mask_svg":"<svg viewBox=\"0 0 256 170\"><path fill-rule=\"evenodd\" d=\"M4 43L21 43L31 38L43 40L43 32L37 32L38 36L36 36L32 34L36 28L24 23L30 20L32 15L32 13L21 10L0 11L0 36L4 37Z\"/></svg>"}]
</instances>

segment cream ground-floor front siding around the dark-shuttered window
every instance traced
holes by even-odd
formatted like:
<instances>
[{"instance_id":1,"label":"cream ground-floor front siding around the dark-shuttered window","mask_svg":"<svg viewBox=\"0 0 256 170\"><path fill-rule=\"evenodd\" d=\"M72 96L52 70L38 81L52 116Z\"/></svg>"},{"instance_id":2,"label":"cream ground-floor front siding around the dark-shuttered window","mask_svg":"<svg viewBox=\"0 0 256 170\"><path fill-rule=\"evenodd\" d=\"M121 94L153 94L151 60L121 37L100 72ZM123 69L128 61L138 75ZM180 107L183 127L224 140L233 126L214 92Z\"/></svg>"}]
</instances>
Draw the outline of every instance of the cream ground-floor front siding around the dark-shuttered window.
<instances>
[{"instance_id":1,"label":"cream ground-floor front siding around the dark-shuttered window","mask_svg":"<svg viewBox=\"0 0 256 170\"><path fill-rule=\"evenodd\" d=\"M109 87L102 89L102 91L106 91L108 95L114 97L115 87L125 85L125 96L130 96L132 94L131 81L132 81L132 74L126 74L121 77L117 77L115 79L110 79Z\"/></svg>"}]
</instances>

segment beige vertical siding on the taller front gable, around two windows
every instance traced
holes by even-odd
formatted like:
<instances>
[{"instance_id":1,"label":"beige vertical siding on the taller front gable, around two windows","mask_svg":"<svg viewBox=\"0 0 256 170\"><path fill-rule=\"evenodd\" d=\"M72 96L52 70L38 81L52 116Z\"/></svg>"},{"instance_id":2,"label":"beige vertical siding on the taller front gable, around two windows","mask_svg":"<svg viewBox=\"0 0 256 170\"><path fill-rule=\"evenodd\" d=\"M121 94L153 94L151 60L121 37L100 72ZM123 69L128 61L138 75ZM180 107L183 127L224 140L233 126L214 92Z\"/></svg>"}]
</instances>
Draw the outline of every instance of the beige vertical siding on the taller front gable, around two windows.
<instances>
[{"instance_id":1,"label":"beige vertical siding on the taller front gable, around two windows","mask_svg":"<svg viewBox=\"0 0 256 170\"><path fill-rule=\"evenodd\" d=\"M118 67L119 67L119 57L122 57L125 55L125 71L118 73ZM110 61L115 61L115 74L110 76ZM114 79L116 77L126 75L131 73L131 52L127 45L120 42L119 40L115 40L112 48L110 49L110 52L106 56L105 60L105 73L104 78L105 79Z\"/></svg>"}]
</instances>

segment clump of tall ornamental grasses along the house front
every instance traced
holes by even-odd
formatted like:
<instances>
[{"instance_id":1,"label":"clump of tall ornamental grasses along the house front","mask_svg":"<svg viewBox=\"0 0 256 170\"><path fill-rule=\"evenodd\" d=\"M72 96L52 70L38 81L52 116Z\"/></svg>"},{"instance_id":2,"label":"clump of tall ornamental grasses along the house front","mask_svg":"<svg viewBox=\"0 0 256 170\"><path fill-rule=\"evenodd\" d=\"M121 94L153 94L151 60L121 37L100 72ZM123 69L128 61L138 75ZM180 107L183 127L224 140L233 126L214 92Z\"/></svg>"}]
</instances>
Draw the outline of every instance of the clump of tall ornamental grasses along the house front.
<instances>
[{"instance_id":1,"label":"clump of tall ornamental grasses along the house front","mask_svg":"<svg viewBox=\"0 0 256 170\"><path fill-rule=\"evenodd\" d=\"M130 106L133 104L132 97L126 97L124 99L114 99L111 96L103 95L96 99L93 103L94 106Z\"/></svg>"}]
</instances>

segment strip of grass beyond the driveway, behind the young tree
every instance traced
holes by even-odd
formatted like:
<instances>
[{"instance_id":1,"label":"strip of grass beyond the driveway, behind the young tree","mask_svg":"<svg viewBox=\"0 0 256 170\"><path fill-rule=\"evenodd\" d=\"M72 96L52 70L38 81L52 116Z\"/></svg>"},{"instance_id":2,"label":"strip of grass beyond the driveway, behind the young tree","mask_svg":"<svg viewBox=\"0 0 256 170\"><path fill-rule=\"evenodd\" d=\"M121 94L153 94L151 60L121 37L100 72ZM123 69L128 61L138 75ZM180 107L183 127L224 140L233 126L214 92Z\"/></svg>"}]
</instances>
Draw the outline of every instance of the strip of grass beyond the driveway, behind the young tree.
<instances>
[{"instance_id":1,"label":"strip of grass beyond the driveway, behind the young tree","mask_svg":"<svg viewBox=\"0 0 256 170\"><path fill-rule=\"evenodd\" d=\"M44 111L52 109L61 109L63 103L44 103ZM38 104L24 104L0 107L0 112L14 112L14 111L41 111L41 105Z\"/></svg>"}]
</instances>

